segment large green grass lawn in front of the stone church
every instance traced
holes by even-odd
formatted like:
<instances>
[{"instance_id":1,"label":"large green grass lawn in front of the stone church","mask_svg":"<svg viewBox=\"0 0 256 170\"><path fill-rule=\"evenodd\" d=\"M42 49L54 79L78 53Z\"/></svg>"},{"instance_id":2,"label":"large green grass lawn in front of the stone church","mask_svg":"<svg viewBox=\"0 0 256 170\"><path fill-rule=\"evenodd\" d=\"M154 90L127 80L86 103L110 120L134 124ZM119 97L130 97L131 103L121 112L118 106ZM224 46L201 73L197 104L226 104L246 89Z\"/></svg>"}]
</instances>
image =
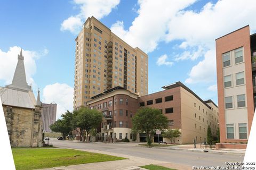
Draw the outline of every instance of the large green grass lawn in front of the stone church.
<instances>
[{"instance_id":1,"label":"large green grass lawn in front of the stone church","mask_svg":"<svg viewBox=\"0 0 256 170\"><path fill-rule=\"evenodd\" d=\"M125 159L122 157L95 154L74 149L12 149L12 154L17 170Z\"/></svg>"}]
</instances>

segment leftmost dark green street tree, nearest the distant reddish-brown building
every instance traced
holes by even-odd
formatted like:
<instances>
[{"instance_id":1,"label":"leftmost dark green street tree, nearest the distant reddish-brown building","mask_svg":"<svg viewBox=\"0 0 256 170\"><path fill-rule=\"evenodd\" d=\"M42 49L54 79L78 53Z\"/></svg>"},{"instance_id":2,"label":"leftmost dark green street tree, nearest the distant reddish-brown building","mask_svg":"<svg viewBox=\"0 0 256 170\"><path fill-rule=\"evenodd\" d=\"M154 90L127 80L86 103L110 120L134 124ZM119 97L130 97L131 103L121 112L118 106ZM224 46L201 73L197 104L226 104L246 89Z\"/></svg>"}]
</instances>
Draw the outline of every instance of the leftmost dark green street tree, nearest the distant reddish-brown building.
<instances>
[{"instance_id":1,"label":"leftmost dark green street tree, nearest the distant reddish-brown building","mask_svg":"<svg viewBox=\"0 0 256 170\"><path fill-rule=\"evenodd\" d=\"M71 121L73 120L73 114L67 111L61 115L62 119L58 119L55 123L50 125L50 129L53 132L61 132L63 139L66 139L67 134L72 130Z\"/></svg>"}]
</instances>

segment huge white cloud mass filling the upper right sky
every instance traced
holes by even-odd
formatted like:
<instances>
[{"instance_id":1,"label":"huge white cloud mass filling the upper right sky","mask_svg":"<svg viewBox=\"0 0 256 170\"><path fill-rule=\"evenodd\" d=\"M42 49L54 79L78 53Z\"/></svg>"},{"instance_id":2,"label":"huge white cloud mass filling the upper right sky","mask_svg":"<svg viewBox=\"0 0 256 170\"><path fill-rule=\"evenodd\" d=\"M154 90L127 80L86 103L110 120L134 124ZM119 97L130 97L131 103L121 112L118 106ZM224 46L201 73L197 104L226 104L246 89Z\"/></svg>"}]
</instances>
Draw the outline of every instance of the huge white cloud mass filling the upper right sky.
<instances>
[{"instance_id":1,"label":"huge white cloud mass filling the upper right sky","mask_svg":"<svg viewBox=\"0 0 256 170\"><path fill-rule=\"evenodd\" d=\"M256 1L222 0L215 4L206 3L199 11L187 10L195 2L141 0L138 1L138 16L131 27L125 30L123 21L117 21L111 30L145 52L154 51L161 41L182 40L178 45L181 52L179 50L174 61L203 58L191 69L186 82L210 82L209 77L216 79L214 74L206 76L206 73L215 73L215 53L212 53L215 39L247 24L251 31L255 31Z\"/></svg>"}]
</instances>

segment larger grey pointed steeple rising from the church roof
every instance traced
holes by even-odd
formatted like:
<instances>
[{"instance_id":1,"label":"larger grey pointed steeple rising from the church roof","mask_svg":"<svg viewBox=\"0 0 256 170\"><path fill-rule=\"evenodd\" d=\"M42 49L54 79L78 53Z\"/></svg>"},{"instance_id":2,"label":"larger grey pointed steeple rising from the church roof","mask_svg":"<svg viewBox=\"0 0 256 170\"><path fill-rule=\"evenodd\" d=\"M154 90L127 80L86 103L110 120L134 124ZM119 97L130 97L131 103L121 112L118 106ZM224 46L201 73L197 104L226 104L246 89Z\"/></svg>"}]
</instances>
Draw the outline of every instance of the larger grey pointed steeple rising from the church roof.
<instances>
[{"instance_id":1,"label":"larger grey pointed steeple rising from the church roof","mask_svg":"<svg viewBox=\"0 0 256 170\"><path fill-rule=\"evenodd\" d=\"M18 63L13 75L12 84L6 86L6 88L32 91L31 86L28 86L26 79L24 56L22 55L22 49L20 49L20 55L18 55Z\"/></svg>"}]
</instances>

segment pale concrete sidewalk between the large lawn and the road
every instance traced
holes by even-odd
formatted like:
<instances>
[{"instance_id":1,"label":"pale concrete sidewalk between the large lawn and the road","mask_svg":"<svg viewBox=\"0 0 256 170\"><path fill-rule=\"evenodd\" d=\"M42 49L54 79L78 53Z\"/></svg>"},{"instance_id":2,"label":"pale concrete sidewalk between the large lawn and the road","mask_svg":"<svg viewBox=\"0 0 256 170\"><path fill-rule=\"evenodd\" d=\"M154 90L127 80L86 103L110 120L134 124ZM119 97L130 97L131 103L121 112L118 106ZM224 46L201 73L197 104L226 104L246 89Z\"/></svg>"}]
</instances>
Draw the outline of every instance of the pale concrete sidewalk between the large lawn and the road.
<instances>
[{"instance_id":1,"label":"pale concrete sidewalk between the large lawn and the road","mask_svg":"<svg viewBox=\"0 0 256 170\"><path fill-rule=\"evenodd\" d=\"M52 167L52 168L45 168L41 170L91 170L91 169L102 169L102 170L113 170L113 169L123 169L131 166L143 166L143 165L161 165L169 168L179 169L179 170L188 170L191 169L191 166L181 165L181 164L173 164L169 162L163 162L153 159L145 159L140 157L134 156L127 156L123 154L116 154L113 152L106 152L106 151L99 151L99 150L91 150L91 149L79 149L83 151L89 151L99 154L107 154L112 156L124 157L127 159L124 160L115 160L115 161L108 161L108 162L100 162L100 163L89 163L89 164L79 164L79 165L69 165L69 166L61 166L61 167Z\"/></svg>"}]
</instances>

